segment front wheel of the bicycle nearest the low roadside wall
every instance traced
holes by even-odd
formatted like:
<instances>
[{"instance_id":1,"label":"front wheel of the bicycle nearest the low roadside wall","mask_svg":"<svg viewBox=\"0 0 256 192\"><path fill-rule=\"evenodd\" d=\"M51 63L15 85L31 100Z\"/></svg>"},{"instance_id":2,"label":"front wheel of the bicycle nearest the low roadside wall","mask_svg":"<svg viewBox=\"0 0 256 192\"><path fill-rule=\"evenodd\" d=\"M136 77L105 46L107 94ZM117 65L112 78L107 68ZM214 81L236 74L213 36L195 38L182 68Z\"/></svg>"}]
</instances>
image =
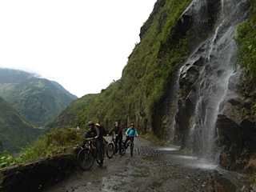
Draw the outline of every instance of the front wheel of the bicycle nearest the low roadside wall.
<instances>
[{"instance_id":1,"label":"front wheel of the bicycle nearest the low roadside wall","mask_svg":"<svg viewBox=\"0 0 256 192\"><path fill-rule=\"evenodd\" d=\"M90 170L90 167L94 165L94 154L89 149L82 149L78 152L78 166L82 170Z\"/></svg>"}]
</instances>

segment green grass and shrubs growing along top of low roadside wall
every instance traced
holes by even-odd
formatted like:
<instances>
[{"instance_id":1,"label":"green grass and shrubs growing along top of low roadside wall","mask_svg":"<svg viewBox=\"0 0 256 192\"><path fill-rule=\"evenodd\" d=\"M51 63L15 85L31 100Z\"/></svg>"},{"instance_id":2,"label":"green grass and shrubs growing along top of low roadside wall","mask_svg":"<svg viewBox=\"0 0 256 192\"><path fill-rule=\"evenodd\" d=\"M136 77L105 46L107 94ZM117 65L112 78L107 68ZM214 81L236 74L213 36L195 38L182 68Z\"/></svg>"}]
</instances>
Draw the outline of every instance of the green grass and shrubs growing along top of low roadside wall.
<instances>
[{"instance_id":1,"label":"green grass and shrubs growing along top of low roadside wall","mask_svg":"<svg viewBox=\"0 0 256 192\"><path fill-rule=\"evenodd\" d=\"M30 146L22 149L17 158L8 151L0 155L0 169L24 162L31 162L38 158L48 158L56 154L68 153L70 148L82 143L82 137L86 130L76 128L61 128L43 134Z\"/></svg>"}]
</instances>

